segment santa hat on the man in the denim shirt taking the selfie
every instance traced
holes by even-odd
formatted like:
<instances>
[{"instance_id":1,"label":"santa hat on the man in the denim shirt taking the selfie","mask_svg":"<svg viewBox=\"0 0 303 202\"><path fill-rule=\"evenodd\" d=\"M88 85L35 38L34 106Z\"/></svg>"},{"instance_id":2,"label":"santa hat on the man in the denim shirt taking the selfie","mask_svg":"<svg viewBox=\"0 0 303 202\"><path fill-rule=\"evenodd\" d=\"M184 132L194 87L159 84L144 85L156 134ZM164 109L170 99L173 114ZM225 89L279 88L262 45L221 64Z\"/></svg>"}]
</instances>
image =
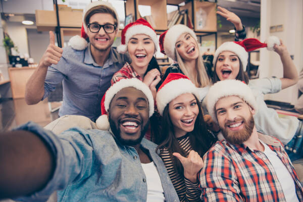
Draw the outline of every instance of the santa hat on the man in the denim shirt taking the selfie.
<instances>
[{"instance_id":1,"label":"santa hat on the man in the denim shirt taking the selfie","mask_svg":"<svg viewBox=\"0 0 303 202\"><path fill-rule=\"evenodd\" d=\"M102 98L101 101L101 113L102 116L100 116L96 120L97 128L100 130L109 130L110 129L110 123L108 119L108 111L110 109L110 103L112 101L112 98L117 94L120 90L126 87L134 87L140 91L142 91L148 100L148 106L149 106L149 117L151 117L154 114L154 97L151 93L150 89L146 84L144 84L142 81L140 81L137 78L131 78L131 79L121 79L118 82L114 83L105 93L105 95Z\"/></svg>"}]
</instances>

